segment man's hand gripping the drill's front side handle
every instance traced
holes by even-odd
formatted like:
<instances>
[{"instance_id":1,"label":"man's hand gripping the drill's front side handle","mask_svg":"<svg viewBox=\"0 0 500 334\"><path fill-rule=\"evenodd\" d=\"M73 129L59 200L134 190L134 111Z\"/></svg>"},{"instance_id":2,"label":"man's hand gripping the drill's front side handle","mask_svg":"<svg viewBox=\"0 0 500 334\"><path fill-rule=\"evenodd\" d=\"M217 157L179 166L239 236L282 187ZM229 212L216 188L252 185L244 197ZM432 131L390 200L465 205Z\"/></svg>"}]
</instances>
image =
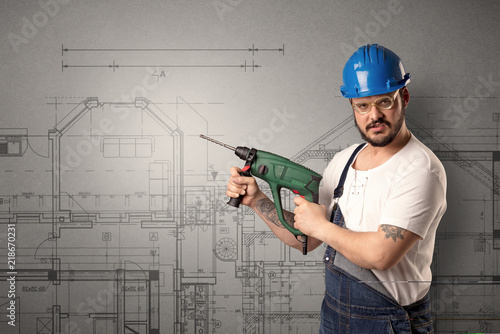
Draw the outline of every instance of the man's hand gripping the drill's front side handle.
<instances>
[{"instance_id":1,"label":"man's hand gripping the drill's front side handle","mask_svg":"<svg viewBox=\"0 0 500 334\"><path fill-rule=\"evenodd\" d=\"M241 198L241 204L252 207L258 199L267 197L257 185L252 176L241 176L241 168L231 167L231 177L227 184L226 195L229 197Z\"/></svg>"}]
</instances>

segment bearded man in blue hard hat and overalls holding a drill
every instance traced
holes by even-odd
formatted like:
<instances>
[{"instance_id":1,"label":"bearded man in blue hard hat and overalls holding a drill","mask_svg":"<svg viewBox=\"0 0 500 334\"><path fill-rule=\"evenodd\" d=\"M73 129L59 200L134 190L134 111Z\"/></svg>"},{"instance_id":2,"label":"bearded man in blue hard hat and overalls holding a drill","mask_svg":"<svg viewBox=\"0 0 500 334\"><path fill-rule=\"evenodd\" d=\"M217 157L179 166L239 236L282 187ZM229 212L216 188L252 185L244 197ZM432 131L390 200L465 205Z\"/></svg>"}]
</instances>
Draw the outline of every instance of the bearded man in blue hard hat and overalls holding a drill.
<instances>
[{"instance_id":1,"label":"bearded man in blue hard hat and overalls holding a drill","mask_svg":"<svg viewBox=\"0 0 500 334\"><path fill-rule=\"evenodd\" d=\"M444 168L406 127L410 75L394 52L377 44L359 48L343 81L341 93L366 144L335 155L323 174L320 204L296 197L295 215L287 214L309 236L309 250L328 246L320 333L433 332L428 291L446 210ZM231 168L227 195L245 195L241 203L300 250L271 200L239 171Z\"/></svg>"}]
</instances>

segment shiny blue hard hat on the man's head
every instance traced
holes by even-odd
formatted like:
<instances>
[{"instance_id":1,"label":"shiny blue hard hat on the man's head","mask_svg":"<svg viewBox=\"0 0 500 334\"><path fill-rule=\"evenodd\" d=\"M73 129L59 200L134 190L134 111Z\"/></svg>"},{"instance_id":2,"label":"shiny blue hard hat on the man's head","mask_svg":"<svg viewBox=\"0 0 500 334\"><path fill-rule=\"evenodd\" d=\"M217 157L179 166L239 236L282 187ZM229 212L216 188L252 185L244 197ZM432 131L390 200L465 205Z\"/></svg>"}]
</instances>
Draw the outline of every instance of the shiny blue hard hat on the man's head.
<instances>
[{"instance_id":1,"label":"shiny blue hard hat on the man's head","mask_svg":"<svg viewBox=\"0 0 500 334\"><path fill-rule=\"evenodd\" d=\"M343 97L355 98L394 92L410 82L401 59L391 50L367 44L354 52L344 66Z\"/></svg>"}]
</instances>

